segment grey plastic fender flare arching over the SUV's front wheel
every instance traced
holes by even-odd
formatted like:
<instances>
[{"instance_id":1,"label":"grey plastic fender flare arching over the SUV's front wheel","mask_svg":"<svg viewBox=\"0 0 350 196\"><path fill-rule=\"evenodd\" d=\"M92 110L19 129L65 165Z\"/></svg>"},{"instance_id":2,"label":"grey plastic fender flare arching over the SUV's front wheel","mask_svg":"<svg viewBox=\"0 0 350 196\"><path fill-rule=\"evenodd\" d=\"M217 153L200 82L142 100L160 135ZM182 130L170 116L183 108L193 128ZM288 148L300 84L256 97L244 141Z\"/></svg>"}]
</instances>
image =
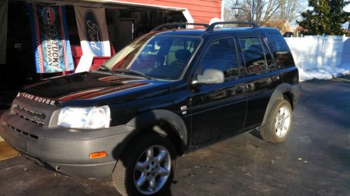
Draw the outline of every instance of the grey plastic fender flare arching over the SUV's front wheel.
<instances>
[{"instance_id":1,"label":"grey plastic fender flare arching over the SUV's front wheel","mask_svg":"<svg viewBox=\"0 0 350 196\"><path fill-rule=\"evenodd\" d=\"M151 110L135 116L126 125L136 128L132 133L132 137L134 137L134 135L140 133L144 128L160 122L167 122L176 129L176 134L181 140L181 152L185 151L186 146L188 146L188 131L183 119L174 112L170 112L169 110Z\"/></svg>"}]
</instances>

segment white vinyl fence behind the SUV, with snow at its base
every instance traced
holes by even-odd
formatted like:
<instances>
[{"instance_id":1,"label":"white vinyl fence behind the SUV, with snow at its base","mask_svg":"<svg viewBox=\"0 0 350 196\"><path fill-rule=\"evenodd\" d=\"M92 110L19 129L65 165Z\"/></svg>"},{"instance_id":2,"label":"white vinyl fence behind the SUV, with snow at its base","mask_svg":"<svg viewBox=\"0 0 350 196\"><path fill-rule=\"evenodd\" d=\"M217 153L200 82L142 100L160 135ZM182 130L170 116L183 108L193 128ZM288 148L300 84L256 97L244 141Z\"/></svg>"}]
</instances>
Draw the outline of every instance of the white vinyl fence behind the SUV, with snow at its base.
<instances>
[{"instance_id":1,"label":"white vinyl fence behind the SUV, with snow at its base","mask_svg":"<svg viewBox=\"0 0 350 196\"><path fill-rule=\"evenodd\" d=\"M300 81L350 74L350 38L345 36L305 36L286 38Z\"/></svg>"}]
</instances>

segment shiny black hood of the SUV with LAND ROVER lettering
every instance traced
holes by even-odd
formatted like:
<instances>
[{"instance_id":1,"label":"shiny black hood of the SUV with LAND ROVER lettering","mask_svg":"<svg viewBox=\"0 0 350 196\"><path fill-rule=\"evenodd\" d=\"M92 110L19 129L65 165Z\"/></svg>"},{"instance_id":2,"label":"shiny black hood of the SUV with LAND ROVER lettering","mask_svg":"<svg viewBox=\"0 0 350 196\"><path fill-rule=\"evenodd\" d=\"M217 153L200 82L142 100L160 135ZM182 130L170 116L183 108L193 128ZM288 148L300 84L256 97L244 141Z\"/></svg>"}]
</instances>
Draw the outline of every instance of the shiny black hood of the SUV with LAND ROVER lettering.
<instances>
[{"instance_id":1,"label":"shiny black hood of the SUV with LAND ROVER lettering","mask_svg":"<svg viewBox=\"0 0 350 196\"><path fill-rule=\"evenodd\" d=\"M25 86L19 96L41 103L53 105L69 100L96 99L119 94L142 91L152 86L169 84L166 81L142 80L120 75L107 75L99 72L76 73L41 80Z\"/></svg>"}]
</instances>

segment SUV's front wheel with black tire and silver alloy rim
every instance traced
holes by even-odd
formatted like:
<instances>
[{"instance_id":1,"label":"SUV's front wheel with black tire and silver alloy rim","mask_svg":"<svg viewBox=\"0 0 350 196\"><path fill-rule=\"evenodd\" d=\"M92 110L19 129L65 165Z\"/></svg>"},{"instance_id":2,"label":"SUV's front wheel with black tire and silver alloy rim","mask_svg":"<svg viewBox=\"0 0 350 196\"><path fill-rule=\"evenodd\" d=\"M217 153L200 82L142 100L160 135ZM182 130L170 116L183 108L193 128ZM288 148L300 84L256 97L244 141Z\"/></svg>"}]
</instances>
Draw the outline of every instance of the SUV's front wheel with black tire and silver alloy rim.
<instances>
[{"instance_id":1,"label":"SUV's front wheel with black tire and silver alloy rim","mask_svg":"<svg viewBox=\"0 0 350 196\"><path fill-rule=\"evenodd\" d=\"M126 195L162 195L174 179L176 151L157 133L141 134L125 147L112 174L113 185Z\"/></svg>"}]
</instances>

